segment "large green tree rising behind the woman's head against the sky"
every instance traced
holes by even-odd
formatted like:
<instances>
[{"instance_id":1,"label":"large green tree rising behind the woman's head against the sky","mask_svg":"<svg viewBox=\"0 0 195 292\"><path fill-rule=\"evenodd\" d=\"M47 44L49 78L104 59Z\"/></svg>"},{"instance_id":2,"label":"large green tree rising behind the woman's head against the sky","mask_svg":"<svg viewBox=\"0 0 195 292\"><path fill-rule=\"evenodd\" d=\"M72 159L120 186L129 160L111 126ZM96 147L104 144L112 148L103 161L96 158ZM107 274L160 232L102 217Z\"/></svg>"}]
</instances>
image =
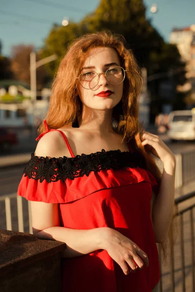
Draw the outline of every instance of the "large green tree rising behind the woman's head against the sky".
<instances>
[{"instance_id":1,"label":"large green tree rising behind the woman's head against the sky","mask_svg":"<svg viewBox=\"0 0 195 292\"><path fill-rule=\"evenodd\" d=\"M146 67L148 75L182 66L176 46L164 42L146 19L145 10L143 0L100 0L97 9L79 23L70 22L66 27L54 25L41 55L58 55L55 62L46 65L50 76L55 74L72 40L85 33L104 30L125 37L127 47L133 49L139 66Z\"/></svg>"}]
</instances>

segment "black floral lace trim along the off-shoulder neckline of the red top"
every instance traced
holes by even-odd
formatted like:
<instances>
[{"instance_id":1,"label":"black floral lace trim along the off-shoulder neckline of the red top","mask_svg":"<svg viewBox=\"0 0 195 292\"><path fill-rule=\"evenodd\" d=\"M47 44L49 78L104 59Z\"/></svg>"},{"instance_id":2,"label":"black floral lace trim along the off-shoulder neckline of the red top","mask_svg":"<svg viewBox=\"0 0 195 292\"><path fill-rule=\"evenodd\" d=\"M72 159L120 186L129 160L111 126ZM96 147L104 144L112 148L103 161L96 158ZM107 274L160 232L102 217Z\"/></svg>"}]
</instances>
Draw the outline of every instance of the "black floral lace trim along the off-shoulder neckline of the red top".
<instances>
[{"instance_id":1,"label":"black floral lace trim along the off-shoulder neckline of the red top","mask_svg":"<svg viewBox=\"0 0 195 292\"><path fill-rule=\"evenodd\" d=\"M105 151L77 155L76 157L48 158L38 157L34 153L26 165L23 173L29 179L39 180L40 183L46 180L48 183L66 179L74 180L84 175L89 176L90 172L98 172L103 169L122 169L127 167L146 168L144 159L137 153L120 150Z\"/></svg>"}]
</instances>

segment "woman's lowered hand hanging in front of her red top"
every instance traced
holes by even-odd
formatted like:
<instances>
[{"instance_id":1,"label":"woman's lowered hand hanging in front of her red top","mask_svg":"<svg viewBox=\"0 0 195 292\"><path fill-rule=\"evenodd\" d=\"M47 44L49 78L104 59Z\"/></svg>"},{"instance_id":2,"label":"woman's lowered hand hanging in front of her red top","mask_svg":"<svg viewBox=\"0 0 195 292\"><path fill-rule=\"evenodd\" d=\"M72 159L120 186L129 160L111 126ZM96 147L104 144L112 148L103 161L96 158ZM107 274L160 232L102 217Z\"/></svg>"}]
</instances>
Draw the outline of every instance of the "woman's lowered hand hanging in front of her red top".
<instances>
[{"instance_id":1,"label":"woman's lowered hand hanging in front of her red top","mask_svg":"<svg viewBox=\"0 0 195 292\"><path fill-rule=\"evenodd\" d=\"M137 267L142 269L144 264L148 267L148 257L136 243L112 228L106 227L101 230L103 238L101 248L117 262L125 275L129 274L128 265L131 268L130 272L136 272Z\"/></svg>"}]
</instances>

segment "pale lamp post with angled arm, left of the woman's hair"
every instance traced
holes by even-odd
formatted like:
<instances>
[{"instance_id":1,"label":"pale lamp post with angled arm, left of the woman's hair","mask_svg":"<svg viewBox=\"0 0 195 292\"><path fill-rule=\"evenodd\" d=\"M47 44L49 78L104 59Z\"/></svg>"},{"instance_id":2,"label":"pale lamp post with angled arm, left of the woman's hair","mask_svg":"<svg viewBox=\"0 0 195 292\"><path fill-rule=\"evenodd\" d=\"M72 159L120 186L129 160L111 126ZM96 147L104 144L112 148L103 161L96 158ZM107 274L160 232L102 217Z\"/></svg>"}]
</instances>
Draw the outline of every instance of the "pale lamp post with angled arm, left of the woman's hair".
<instances>
[{"instance_id":1,"label":"pale lamp post with angled arm, left of the woman's hair","mask_svg":"<svg viewBox=\"0 0 195 292\"><path fill-rule=\"evenodd\" d=\"M36 53L30 53L30 91L32 104L32 119L35 126L35 104L37 100L37 68L57 59L57 55L51 55L36 62Z\"/></svg>"}]
</instances>

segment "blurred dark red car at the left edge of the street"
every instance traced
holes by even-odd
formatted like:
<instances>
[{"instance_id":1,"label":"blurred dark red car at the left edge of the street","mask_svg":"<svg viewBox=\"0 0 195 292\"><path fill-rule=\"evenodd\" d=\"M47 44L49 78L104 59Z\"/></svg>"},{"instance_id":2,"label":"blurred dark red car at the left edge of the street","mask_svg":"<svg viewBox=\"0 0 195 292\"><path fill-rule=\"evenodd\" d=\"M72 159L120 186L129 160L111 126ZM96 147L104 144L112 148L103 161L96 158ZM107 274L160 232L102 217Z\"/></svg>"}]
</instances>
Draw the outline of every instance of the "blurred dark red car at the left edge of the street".
<instances>
[{"instance_id":1,"label":"blurred dark red car at the left edge of the street","mask_svg":"<svg viewBox=\"0 0 195 292\"><path fill-rule=\"evenodd\" d=\"M0 152L9 151L11 146L16 144L18 144L16 133L6 128L0 128Z\"/></svg>"}]
</instances>

